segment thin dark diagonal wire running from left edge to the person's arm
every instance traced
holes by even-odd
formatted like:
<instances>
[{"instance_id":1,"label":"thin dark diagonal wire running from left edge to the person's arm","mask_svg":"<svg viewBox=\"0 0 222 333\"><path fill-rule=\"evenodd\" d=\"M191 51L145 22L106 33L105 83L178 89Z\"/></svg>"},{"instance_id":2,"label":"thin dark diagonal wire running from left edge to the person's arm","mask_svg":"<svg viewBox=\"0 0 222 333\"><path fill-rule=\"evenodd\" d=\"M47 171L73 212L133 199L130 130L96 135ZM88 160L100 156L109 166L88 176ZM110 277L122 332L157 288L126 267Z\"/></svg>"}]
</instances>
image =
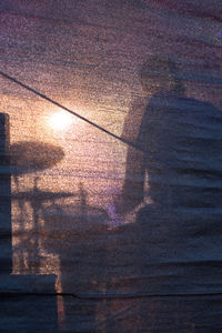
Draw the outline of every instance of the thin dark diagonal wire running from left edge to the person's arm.
<instances>
[{"instance_id":1,"label":"thin dark diagonal wire running from left edge to the person's arm","mask_svg":"<svg viewBox=\"0 0 222 333\"><path fill-rule=\"evenodd\" d=\"M61 108L62 110L64 110L64 111L71 113L72 115L74 115L74 117L81 119L82 121L89 123L90 125L92 125L92 127L94 127L95 129L98 129L98 130L104 132L105 134L108 134L108 135L114 138L115 140L119 140L119 141L121 141L122 143L125 143L125 144L128 144L128 145L130 145L130 147L133 147L134 149L140 150L141 152L145 153L142 149L140 149L140 147L139 147L138 144L135 144L135 143L131 142L131 141L128 141L128 140L125 140L125 139L123 139L123 138L121 138L121 137L119 137L119 135L117 135L117 134L114 134L114 133L112 133L112 132L105 130L104 128L100 127L99 124L94 123L93 121L91 121L91 120L89 120L89 119L82 117L81 114L79 114L79 113L77 113L77 112L74 112L74 111L72 111L72 110L70 110L70 109L68 109L67 107L63 107L62 104L60 104L60 103L58 103L57 101L50 99L49 97L47 97L46 94L43 94L43 93L37 91L36 89L33 89L33 88L31 88L31 87L24 84L23 82L21 82L21 81L14 79L14 78L12 78L12 77L10 77L9 74L7 74L7 73L4 73L4 72L2 72L2 71L0 71L0 74L1 74L3 78L6 78L6 79L8 79L8 80L10 80L10 81L12 81L12 82L19 84L20 87L24 88L26 90L28 90L28 91L30 91L30 92L37 94L38 97L40 97L40 98L42 98L42 99L44 99L44 100L47 100L48 102L50 102L50 103L52 103L52 104L54 104L54 105Z\"/></svg>"}]
</instances>

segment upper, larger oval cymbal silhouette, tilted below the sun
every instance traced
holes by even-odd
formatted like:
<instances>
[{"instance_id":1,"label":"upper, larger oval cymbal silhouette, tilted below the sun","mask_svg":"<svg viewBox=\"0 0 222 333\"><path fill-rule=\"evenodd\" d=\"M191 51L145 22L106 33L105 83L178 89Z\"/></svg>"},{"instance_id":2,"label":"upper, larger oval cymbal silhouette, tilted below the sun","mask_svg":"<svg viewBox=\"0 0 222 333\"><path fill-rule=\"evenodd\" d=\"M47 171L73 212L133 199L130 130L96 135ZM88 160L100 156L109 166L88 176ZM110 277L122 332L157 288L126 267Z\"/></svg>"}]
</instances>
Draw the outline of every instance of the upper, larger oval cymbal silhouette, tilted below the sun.
<instances>
[{"instance_id":1,"label":"upper, larger oval cymbal silhouette, tilted below the sun","mask_svg":"<svg viewBox=\"0 0 222 333\"><path fill-rule=\"evenodd\" d=\"M62 148L41 141L19 141L10 147L12 173L29 173L54 167L64 158Z\"/></svg>"}]
</instances>

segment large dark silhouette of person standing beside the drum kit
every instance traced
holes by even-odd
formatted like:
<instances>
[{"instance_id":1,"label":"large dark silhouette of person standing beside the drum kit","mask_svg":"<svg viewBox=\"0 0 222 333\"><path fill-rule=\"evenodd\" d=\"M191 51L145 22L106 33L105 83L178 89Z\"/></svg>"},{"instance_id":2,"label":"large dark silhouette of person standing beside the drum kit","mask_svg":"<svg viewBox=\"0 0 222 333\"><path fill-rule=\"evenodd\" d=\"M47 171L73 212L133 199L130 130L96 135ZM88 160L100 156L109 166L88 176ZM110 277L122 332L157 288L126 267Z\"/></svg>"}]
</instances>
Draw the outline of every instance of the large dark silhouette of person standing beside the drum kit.
<instances>
[{"instance_id":1,"label":"large dark silhouette of person standing beside the drum kit","mask_svg":"<svg viewBox=\"0 0 222 333\"><path fill-rule=\"evenodd\" d=\"M221 306L214 304L208 313L208 299L175 297L220 292L216 276L222 273L222 113L209 102L185 97L185 79L171 60L151 58L142 67L149 103L135 138L140 151L128 150L125 181L115 202L120 219L137 211L138 291L172 294L140 306L143 323L153 332L191 330L201 313L205 322L212 324L213 317L222 327ZM152 315L148 306L155 309Z\"/></svg>"}]
</instances>

